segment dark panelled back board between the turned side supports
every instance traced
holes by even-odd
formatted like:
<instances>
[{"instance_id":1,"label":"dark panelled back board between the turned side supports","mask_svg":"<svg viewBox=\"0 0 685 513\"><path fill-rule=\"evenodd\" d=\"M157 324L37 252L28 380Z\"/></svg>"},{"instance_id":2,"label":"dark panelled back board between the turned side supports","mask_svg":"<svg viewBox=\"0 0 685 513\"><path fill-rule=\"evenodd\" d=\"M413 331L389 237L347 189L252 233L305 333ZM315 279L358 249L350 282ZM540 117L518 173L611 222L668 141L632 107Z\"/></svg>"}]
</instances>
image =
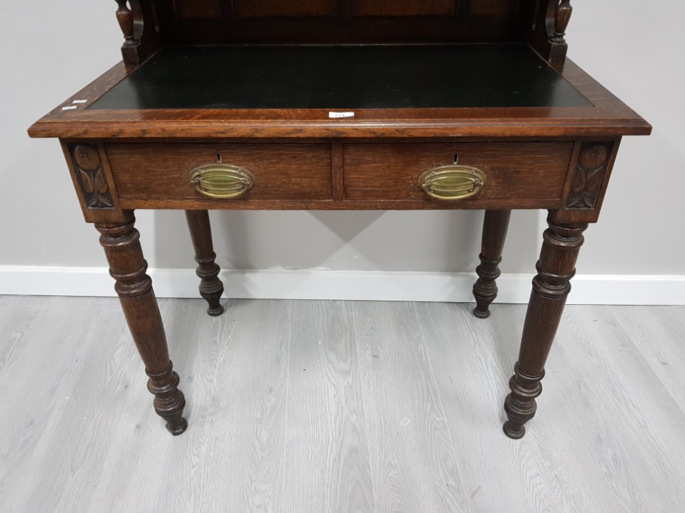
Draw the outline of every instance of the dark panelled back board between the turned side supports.
<instances>
[{"instance_id":1,"label":"dark panelled back board between the turned side supports","mask_svg":"<svg viewBox=\"0 0 685 513\"><path fill-rule=\"evenodd\" d=\"M535 0L154 0L167 44L525 40Z\"/></svg>"}]
</instances>

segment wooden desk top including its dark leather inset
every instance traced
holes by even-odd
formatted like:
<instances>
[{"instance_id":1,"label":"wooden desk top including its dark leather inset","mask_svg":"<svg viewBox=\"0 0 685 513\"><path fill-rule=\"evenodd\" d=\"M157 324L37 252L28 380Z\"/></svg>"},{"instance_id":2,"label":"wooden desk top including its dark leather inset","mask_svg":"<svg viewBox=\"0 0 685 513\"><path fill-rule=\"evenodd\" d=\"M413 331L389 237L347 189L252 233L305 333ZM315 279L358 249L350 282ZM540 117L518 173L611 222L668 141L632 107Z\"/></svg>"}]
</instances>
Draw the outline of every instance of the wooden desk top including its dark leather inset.
<instances>
[{"instance_id":1,"label":"wooden desk top including its dark leather inset","mask_svg":"<svg viewBox=\"0 0 685 513\"><path fill-rule=\"evenodd\" d=\"M354 118L331 119L331 110ZM649 134L573 62L524 44L165 47L29 129L60 138L453 138Z\"/></svg>"}]
</instances>

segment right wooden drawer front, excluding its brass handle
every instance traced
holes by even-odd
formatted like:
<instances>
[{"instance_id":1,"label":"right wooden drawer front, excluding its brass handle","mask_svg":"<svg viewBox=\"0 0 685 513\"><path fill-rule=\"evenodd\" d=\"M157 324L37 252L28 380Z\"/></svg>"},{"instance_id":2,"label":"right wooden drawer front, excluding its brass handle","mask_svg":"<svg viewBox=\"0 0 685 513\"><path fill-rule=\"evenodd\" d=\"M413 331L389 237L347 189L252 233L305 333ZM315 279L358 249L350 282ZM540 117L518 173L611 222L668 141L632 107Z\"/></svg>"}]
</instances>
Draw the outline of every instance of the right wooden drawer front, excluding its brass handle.
<instances>
[{"instance_id":1,"label":"right wooden drawer front, excluding its brass handle","mask_svg":"<svg viewBox=\"0 0 685 513\"><path fill-rule=\"evenodd\" d=\"M573 142L349 144L345 198L440 201L422 190L419 179L458 160L485 175L474 200L561 199L572 153Z\"/></svg>"}]
</instances>

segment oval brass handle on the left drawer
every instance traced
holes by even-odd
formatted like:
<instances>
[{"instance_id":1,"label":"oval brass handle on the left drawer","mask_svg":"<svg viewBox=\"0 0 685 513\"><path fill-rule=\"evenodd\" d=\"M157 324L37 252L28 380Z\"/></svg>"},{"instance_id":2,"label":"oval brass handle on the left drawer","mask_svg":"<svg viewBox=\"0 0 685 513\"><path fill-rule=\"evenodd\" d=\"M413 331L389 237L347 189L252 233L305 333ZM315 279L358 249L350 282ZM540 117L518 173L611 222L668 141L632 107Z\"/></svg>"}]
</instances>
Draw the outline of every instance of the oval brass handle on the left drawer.
<instances>
[{"instance_id":1,"label":"oval brass handle on the left drawer","mask_svg":"<svg viewBox=\"0 0 685 513\"><path fill-rule=\"evenodd\" d=\"M230 164L209 164L193 169L191 186L211 198L237 198L254 185L254 175Z\"/></svg>"}]
</instances>

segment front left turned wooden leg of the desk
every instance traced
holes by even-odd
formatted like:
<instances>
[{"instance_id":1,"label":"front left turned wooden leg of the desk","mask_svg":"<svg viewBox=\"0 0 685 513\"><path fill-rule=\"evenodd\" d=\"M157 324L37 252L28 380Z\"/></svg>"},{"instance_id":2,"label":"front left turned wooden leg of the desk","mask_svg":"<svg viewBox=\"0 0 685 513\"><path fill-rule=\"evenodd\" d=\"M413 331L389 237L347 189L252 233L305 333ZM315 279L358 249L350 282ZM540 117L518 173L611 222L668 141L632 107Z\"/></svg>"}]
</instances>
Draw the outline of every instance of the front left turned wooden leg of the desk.
<instances>
[{"instance_id":1,"label":"front left turned wooden leg of the desk","mask_svg":"<svg viewBox=\"0 0 685 513\"><path fill-rule=\"evenodd\" d=\"M178 374L172 370L167 338L152 290L152 279L145 274L140 234L134 228L133 212L126 212L122 223L95 223L101 233L100 243L110 264L110 274L117 280L115 290L131 330L145 372L149 376L147 389L154 394L154 409L167 421L173 435L188 427L183 418L186 405L178 390Z\"/></svg>"}]
</instances>

